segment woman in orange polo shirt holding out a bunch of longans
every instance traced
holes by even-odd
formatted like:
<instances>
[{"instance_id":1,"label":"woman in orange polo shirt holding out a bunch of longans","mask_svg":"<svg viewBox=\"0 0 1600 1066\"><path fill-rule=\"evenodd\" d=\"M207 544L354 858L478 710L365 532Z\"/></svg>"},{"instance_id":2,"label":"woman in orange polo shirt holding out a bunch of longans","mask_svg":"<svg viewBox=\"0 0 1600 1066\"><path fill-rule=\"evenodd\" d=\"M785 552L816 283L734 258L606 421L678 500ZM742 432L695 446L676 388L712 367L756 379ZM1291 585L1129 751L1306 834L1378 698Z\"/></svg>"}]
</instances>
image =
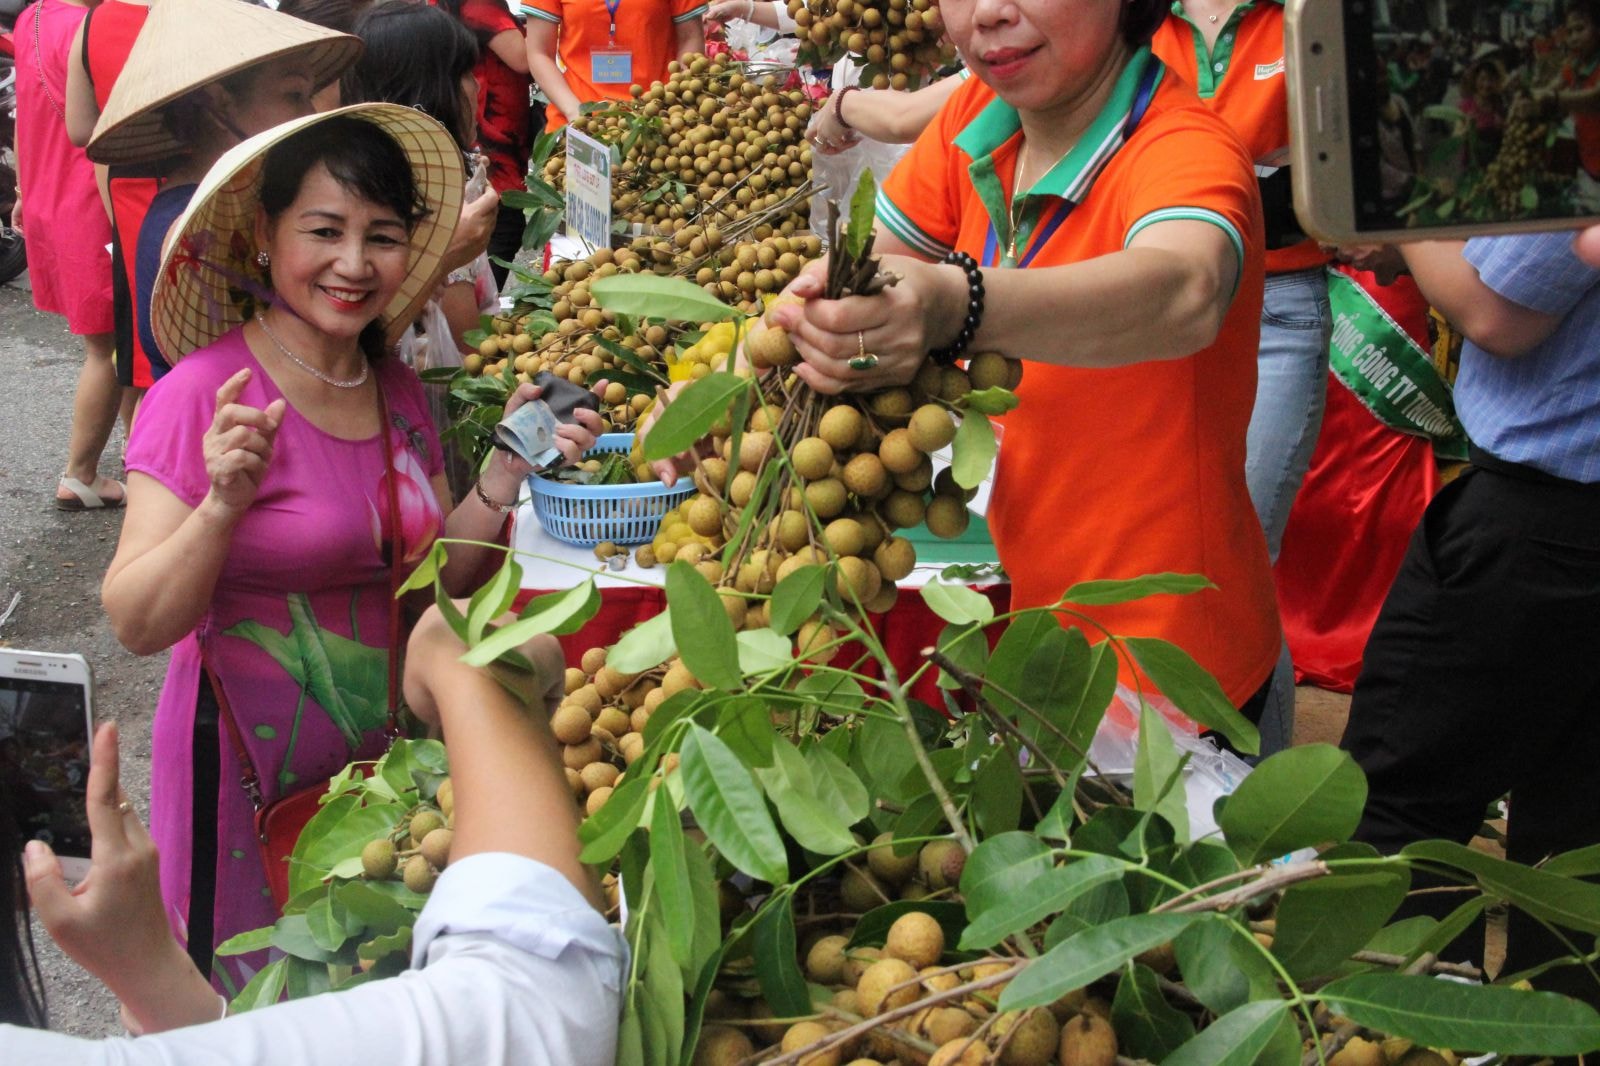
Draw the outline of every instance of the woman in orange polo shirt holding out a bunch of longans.
<instances>
[{"instance_id":1,"label":"woman in orange polo shirt holding out a bunch of longans","mask_svg":"<svg viewBox=\"0 0 1600 1066\"><path fill-rule=\"evenodd\" d=\"M1280 631L1245 483L1262 291L1250 154L1149 51L1166 0L939 10L974 77L880 190L878 250L901 282L835 303L810 271L790 285L808 303L771 319L824 392L904 384L930 349L1027 360L989 509L1013 607L1202 573L1214 589L1088 610L1178 643L1259 717Z\"/></svg>"}]
</instances>

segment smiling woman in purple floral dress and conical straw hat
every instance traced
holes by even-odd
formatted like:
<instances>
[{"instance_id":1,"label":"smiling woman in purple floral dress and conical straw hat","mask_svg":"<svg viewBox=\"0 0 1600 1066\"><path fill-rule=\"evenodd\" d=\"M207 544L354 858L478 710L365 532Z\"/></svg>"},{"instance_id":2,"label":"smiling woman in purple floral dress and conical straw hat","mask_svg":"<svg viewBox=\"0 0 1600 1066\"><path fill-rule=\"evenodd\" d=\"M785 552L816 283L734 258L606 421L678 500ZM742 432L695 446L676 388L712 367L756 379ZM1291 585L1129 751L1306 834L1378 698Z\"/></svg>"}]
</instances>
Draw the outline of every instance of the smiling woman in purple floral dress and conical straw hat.
<instances>
[{"instance_id":1,"label":"smiling woman in purple floral dress and conical straw hat","mask_svg":"<svg viewBox=\"0 0 1600 1066\"><path fill-rule=\"evenodd\" d=\"M430 291L462 184L456 141L410 107L285 123L202 179L157 279L155 336L189 354L134 423L102 599L130 650L173 648L150 820L202 968L277 917L243 763L270 804L382 749L395 568L440 535L494 539L531 472L496 453L448 511L422 384L386 336ZM566 458L598 431L579 418ZM451 549L454 591L482 551ZM237 989L259 962L219 959L213 980Z\"/></svg>"}]
</instances>

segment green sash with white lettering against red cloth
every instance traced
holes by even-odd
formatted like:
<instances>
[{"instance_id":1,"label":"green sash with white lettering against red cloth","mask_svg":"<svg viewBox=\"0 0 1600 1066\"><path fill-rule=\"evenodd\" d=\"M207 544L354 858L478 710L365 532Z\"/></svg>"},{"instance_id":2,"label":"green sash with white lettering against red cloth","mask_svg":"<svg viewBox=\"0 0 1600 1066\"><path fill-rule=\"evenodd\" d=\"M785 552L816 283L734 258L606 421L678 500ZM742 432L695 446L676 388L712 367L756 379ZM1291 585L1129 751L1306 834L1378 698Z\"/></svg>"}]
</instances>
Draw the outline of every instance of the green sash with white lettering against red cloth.
<instances>
[{"instance_id":1,"label":"green sash with white lettering against red cloth","mask_svg":"<svg viewBox=\"0 0 1600 1066\"><path fill-rule=\"evenodd\" d=\"M1450 384L1400 323L1346 274L1328 271L1328 368L1384 426L1427 437L1443 459L1467 458L1467 431Z\"/></svg>"}]
</instances>

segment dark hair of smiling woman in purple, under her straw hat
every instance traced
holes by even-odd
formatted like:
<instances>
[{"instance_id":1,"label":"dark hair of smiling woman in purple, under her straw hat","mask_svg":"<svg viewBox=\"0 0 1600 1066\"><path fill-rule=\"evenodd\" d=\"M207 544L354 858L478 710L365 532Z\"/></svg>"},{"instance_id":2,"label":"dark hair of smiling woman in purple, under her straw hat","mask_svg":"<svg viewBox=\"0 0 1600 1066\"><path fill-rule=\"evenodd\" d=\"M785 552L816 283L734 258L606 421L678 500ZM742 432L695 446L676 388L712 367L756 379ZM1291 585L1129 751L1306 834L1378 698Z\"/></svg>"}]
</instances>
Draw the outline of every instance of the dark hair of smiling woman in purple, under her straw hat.
<instances>
[{"instance_id":1,"label":"dark hair of smiling woman in purple, under her straw hat","mask_svg":"<svg viewBox=\"0 0 1600 1066\"><path fill-rule=\"evenodd\" d=\"M261 210L269 219L294 203L306 174L317 163L355 195L398 214L408 234L429 214L411 160L395 139L371 122L339 115L283 138L267 152L261 168ZM371 360L386 354L384 328L376 319L362 330L362 351Z\"/></svg>"}]
</instances>

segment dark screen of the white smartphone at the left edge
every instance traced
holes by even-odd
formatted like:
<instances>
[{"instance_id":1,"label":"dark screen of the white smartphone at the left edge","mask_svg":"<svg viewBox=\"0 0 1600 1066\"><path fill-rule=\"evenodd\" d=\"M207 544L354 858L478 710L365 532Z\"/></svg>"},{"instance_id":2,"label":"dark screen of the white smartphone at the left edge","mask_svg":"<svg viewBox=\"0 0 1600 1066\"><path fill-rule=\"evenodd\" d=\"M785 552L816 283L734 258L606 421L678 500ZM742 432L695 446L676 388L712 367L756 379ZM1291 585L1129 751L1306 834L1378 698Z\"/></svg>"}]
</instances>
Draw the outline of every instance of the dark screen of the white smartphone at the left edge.
<instances>
[{"instance_id":1,"label":"dark screen of the white smartphone at the left edge","mask_svg":"<svg viewBox=\"0 0 1600 1066\"><path fill-rule=\"evenodd\" d=\"M26 677L0 679L0 802L22 840L86 856L83 789L90 773L85 690Z\"/></svg>"}]
</instances>

